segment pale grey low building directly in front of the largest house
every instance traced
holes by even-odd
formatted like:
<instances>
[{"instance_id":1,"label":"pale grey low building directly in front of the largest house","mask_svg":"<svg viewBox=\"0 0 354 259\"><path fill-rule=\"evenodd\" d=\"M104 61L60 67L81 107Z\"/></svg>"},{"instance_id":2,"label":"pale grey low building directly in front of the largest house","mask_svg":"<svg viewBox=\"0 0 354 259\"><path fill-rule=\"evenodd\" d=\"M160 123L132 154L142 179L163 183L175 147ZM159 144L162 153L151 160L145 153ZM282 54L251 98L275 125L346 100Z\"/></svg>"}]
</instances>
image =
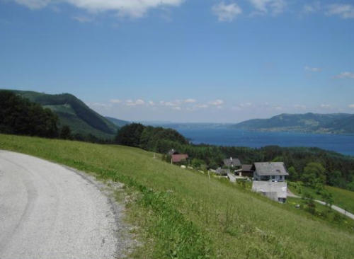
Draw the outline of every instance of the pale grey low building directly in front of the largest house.
<instances>
[{"instance_id":1,"label":"pale grey low building directly in front of the largest house","mask_svg":"<svg viewBox=\"0 0 354 259\"><path fill-rule=\"evenodd\" d=\"M253 180L253 192L258 192L268 197L270 200L284 203L287 200L287 183L286 182L269 182L263 180Z\"/></svg>"}]
</instances>

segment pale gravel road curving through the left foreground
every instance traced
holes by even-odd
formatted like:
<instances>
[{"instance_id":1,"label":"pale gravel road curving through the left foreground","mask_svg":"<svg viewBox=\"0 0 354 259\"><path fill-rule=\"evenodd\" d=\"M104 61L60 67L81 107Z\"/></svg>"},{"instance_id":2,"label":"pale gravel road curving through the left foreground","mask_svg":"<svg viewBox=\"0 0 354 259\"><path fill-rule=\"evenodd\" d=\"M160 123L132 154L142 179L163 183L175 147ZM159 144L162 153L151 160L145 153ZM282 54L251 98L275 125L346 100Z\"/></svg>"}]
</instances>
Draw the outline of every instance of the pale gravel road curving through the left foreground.
<instances>
[{"instance_id":1,"label":"pale gravel road curving through the left foreground","mask_svg":"<svg viewBox=\"0 0 354 259\"><path fill-rule=\"evenodd\" d=\"M0 258L116 258L108 197L74 171L0 151Z\"/></svg>"}]
</instances>

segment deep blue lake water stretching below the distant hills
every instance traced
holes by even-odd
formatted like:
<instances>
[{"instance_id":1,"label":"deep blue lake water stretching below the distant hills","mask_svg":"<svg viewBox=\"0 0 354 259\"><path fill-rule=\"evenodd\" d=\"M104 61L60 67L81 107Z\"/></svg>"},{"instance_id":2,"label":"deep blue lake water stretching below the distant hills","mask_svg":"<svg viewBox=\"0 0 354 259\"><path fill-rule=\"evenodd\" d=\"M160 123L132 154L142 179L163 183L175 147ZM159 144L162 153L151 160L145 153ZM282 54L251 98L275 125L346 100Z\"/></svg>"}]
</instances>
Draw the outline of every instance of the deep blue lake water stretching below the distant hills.
<instances>
[{"instance_id":1,"label":"deep blue lake water stretching below the distant hills","mask_svg":"<svg viewBox=\"0 0 354 259\"><path fill-rule=\"evenodd\" d=\"M250 132L228 128L176 128L194 144L219 146L308 146L354 156L354 135L297 132Z\"/></svg>"}]
</instances>

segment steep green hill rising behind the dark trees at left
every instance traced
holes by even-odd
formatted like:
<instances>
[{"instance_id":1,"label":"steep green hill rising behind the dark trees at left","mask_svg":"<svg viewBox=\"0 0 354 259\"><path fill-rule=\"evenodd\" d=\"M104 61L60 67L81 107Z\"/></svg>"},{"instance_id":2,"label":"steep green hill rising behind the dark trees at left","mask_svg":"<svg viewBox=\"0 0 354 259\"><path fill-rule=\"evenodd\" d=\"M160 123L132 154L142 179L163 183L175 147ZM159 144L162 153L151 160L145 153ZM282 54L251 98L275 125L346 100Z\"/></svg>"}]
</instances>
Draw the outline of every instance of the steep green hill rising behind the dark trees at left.
<instances>
[{"instance_id":1,"label":"steep green hill rising behind the dark trees at left","mask_svg":"<svg viewBox=\"0 0 354 259\"><path fill-rule=\"evenodd\" d=\"M60 125L69 125L73 134L93 134L101 139L111 139L118 130L115 124L69 93L51 95L34 91L13 92L44 108L50 108L58 115Z\"/></svg>"}]
</instances>

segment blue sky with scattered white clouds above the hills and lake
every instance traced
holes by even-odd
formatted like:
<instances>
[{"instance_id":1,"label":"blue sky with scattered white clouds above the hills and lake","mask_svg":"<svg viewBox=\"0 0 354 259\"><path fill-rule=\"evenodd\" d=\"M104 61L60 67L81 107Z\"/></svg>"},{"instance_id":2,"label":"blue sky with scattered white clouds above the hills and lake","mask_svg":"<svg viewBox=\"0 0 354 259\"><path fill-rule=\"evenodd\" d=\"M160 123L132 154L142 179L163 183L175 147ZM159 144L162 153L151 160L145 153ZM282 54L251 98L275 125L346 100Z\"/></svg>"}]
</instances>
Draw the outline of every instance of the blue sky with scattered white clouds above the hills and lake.
<instances>
[{"instance_id":1,"label":"blue sky with scattered white clouds above the hills and lake","mask_svg":"<svg viewBox=\"0 0 354 259\"><path fill-rule=\"evenodd\" d=\"M354 3L0 0L0 87L124 120L354 113Z\"/></svg>"}]
</instances>

